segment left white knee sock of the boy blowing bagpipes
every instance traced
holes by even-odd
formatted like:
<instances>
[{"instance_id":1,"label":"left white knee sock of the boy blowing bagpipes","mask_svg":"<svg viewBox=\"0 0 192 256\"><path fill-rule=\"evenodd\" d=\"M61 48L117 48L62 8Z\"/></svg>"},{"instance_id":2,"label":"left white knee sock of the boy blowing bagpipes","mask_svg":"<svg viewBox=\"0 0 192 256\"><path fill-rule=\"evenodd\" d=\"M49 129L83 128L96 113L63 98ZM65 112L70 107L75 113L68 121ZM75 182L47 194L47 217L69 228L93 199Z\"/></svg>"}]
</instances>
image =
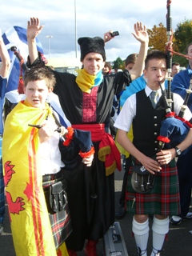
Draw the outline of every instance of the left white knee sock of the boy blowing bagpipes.
<instances>
[{"instance_id":1,"label":"left white knee sock of the boy blowing bagpipes","mask_svg":"<svg viewBox=\"0 0 192 256\"><path fill-rule=\"evenodd\" d=\"M146 222L138 223L133 218L132 222L132 231L134 233L134 239L136 242L136 245L141 250L142 256L147 256L146 254L146 248L147 248L147 242L149 238L149 219L146 220Z\"/></svg>"}]
</instances>

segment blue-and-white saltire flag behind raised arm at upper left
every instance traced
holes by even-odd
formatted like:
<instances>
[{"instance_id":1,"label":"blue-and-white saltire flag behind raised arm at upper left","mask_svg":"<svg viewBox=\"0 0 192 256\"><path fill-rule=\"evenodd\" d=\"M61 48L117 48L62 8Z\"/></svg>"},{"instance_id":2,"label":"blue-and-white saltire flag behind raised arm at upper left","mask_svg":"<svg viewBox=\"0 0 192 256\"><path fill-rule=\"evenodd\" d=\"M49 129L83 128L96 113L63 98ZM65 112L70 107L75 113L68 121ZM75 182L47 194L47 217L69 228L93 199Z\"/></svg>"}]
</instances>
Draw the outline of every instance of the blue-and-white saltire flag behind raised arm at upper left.
<instances>
[{"instance_id":1,"label":"blue-and-white saltire flag behind raised arm at upper left","mask_svg":"<svg viewBox=\"0 0 192 256\"><path fill-rule=\"evenodd\" d=\"M22 58L24 58L25 62L28 56L28 46L27 46L27 38L26 38L26 29L21 26L13 26L9 30L6 30L4 34L2 34L3 41L6 45L6 49L10 54L10 76L8 80L8 85L6 87L6 93L11 90L18 89L18 81L20 74L20 66L18 58L14 55L14 52L10 50L10 47L16 46L18 52L21 54ZM37 48L43 54L42 44L36 38Z\"/></svg>"}]
</instances>

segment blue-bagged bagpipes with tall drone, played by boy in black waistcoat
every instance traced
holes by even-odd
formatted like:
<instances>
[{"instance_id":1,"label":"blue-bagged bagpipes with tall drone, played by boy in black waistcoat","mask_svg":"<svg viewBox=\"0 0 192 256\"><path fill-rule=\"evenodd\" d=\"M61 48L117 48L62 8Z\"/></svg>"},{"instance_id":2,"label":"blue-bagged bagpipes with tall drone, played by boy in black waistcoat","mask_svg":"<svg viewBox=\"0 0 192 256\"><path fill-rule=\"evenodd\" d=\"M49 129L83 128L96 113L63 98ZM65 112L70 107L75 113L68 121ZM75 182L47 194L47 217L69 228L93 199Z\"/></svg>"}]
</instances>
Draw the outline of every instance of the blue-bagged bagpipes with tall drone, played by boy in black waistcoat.
<instances>
[{"instance_id":1,"label":"blue-bagged bagpipes with tall drone, played by boy in black waistcoat","mask_svg":"<svg viewBox=\"0 0 192 256\"><path fill-rule=\"evenodd\" d=\"M160 87L162 90L162 98L164 100L166 106L166 118L161 123L160 134L158 136L158 150L162 150L166 144L166 148L173 148L178 146L183 139L186 138L190 128L192 125L190 122L186 121L183 117L185 114L185 110L187 108L187 103L190 98L190 94L192 93L192 79L190 80L189 89L186 90L186 98L184 99L183 105L178 115L172 112L173 100L171 97L171 66L172 66L172 54L178 54L172 49L172 21L170 17L170 0L167 0L167 15L166 15L166 35L168 38L168 43L166 45L166 56L167 56L167 80L168 80L168 89L167 95L164 90L162 90L162 86L160 83ZM179 54L182 55L182 54ZM184 55L183 55L184 56ZM186 57L186 56L185 56ZM190 150L191 146L186 150L182 151L182 155L186 154L188 150Z\"/></svg>"}]
</instances>

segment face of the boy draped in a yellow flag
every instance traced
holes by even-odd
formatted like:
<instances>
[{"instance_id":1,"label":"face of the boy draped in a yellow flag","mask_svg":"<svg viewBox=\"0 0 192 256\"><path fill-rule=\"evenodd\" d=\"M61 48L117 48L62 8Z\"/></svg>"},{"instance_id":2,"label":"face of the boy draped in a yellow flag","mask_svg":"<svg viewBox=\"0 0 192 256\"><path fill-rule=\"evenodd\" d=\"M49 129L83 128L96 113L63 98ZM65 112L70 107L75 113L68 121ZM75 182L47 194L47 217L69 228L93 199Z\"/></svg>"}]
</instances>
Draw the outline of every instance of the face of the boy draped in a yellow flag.
<instances>
[{"instance_id":1,"label":"face of the boy draped in a yellow flag","mask_svg":"<svg viewBox=\"0 0 192 256\"><path fill-rule=\"evenodd\" d=\"M52 88L48 89L45 80L37 80L28 82L24 87L26 101L30 106L44 108L48 94L52 92Z\"/></svg>"}]
</instances>

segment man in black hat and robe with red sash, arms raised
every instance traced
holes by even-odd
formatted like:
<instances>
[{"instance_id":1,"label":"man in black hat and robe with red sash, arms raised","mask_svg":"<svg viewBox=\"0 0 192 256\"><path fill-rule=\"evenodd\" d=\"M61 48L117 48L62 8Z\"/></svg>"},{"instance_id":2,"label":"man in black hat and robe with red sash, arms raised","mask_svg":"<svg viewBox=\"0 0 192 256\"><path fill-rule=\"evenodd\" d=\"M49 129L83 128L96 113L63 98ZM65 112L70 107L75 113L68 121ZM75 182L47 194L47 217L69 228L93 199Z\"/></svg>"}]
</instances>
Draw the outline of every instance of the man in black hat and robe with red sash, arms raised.
<instances>
[{"instance_id":1,"label":"man in black hat and robe with red sash, arms raised","mask_svg":"<svg viewBox=\"0 0 192 256\"><path fill-rule=\"evenodd\" d=\"M39 26L38 18L31 18L28 22L27 38L32 65L42 63L38 58L34 40L42 27ZM98 37L78 38L84 68L78 71L77 77L73 74L53 71L57 81L54 92L58 94L66 118L72 126L91 131L95 149L94 161L90 168L87 169L81 161L78 162L77 154L74 158L74 169L64 172L68 183L73 228L70 237L66 239L70 255L77 255L75 251L82 250L85 239L88 240L85 246L86 255L97 255L98 239L102 238L114 223L114 170L116 167L119 169L121 162L113 138L111 140L104 129L105 124L109 122L114 94L119 94L126 85L130 84L131 79L137 78L142 73L148 34L141 22L134 25L134 30L134 37L142 46L134 69L130 70L130 73L125 70L102 77L106 53L104 40ZM107 32L104 38L105 42L109 41L110 32ZM108 150L105 150L107 148L111 148L112 155L107 153ZM97 198L93 192L97 194Z\"/></svg>"}]
</instances>

